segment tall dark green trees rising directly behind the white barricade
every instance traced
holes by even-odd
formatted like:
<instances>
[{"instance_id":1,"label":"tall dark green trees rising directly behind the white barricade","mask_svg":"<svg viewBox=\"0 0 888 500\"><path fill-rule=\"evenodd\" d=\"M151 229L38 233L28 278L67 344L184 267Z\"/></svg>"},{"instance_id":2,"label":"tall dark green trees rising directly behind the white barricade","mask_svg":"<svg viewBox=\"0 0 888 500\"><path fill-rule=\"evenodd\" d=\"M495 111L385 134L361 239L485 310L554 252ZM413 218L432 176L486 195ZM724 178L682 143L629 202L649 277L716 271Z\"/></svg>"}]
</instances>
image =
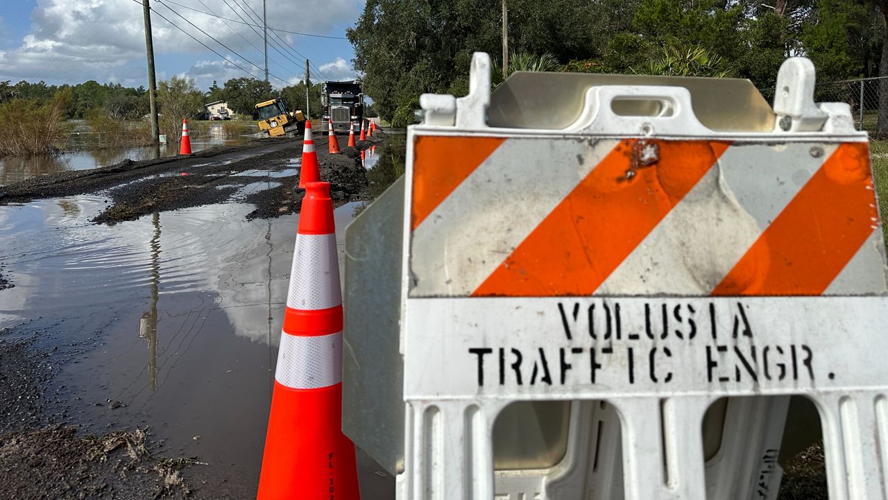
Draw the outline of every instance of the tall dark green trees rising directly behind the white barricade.
<instances>
[{"instance_id":1,"label":"tall dark green trees rising directly behind the white barricade","mask_svg":"<svg viewBox=\"0 0 888 500\"><path fill-rule=\"evenodd\" d=\"M506 3L510 72L733 76L764 90L783 60L802 55L821 82L888 75L885 0ZM421 93L467 92L472 52L501 66L502 2L368 0L347 36L377 112L403 125Z\"/></svg>"}]
</instances>

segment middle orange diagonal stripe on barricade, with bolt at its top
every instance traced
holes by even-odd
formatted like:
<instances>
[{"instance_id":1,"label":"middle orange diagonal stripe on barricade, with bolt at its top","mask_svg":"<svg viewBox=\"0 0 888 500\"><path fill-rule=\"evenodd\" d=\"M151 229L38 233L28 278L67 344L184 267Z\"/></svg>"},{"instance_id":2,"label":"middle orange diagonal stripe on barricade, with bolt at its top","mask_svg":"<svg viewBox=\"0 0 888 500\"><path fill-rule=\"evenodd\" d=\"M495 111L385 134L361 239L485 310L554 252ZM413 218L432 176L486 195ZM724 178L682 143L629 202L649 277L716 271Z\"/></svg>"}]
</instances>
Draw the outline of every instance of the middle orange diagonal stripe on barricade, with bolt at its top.
<instances>
[{"instance_id":1,"label":"middle orange diagonal stripe on barricade, with bolt at its top","mask_svg":"<svg viewBox=\"0 0 888 500\"><path fill-rule=\"evenodd\" d=\"M623 140L472 296L591 295L727 147Z\"/></svg>"}]
</instances>

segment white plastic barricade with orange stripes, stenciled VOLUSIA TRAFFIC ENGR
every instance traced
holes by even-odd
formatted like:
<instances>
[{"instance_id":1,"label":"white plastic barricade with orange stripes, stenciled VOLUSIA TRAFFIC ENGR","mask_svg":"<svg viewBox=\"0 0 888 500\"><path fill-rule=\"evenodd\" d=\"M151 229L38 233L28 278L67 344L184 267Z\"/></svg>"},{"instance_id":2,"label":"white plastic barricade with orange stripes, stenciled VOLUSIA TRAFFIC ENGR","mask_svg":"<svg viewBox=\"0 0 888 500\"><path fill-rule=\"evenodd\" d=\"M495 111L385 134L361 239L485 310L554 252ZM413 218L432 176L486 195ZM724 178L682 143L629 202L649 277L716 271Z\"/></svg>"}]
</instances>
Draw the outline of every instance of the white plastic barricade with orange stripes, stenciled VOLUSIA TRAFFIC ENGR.
<instances>
[{"instance_id":1,"label":"white plastic barricade with orange stripes, stenciled VOLUSIA TRAFFIC ENGR","mask_svg":"<svg viewBox=\"0 0 888 500\"><path fill-rule=\"evenodd\" d=\"M379 201L404 210L402 371L374 376L400 384L402 454L366 432L391 432L370 408L391 387L345 409L398 497L776 498L789 395L820 412L829 498L888 497L868 141L813 84L790 59L773 108L704 78L519 73L491 96L476 53L468 96L424 95ZM372 255L352 243L346 274ZM359 351L345 401L376 373Z\"/></svg>"}]
</instances>

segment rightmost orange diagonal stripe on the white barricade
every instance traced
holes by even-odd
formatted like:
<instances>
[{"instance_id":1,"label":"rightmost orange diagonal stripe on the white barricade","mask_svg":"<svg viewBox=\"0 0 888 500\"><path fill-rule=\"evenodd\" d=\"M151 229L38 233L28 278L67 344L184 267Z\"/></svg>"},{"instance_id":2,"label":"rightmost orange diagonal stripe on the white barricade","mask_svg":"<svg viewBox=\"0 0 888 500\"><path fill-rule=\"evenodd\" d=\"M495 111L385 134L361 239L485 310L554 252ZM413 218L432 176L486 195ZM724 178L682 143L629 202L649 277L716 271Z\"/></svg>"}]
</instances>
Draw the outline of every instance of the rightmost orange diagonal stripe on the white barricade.
<instances>
[{"instance_id":1,"label":"rightmost orange diagonal stripe on the white barricade","mask_svg":"<svg viewBox=\"0 0 888 500\"><path fill-rule=\"evenodd\" d=\"M823 163L712 295L821 295L875 229L868 145Z\"/></svg>"}]
</instances>

